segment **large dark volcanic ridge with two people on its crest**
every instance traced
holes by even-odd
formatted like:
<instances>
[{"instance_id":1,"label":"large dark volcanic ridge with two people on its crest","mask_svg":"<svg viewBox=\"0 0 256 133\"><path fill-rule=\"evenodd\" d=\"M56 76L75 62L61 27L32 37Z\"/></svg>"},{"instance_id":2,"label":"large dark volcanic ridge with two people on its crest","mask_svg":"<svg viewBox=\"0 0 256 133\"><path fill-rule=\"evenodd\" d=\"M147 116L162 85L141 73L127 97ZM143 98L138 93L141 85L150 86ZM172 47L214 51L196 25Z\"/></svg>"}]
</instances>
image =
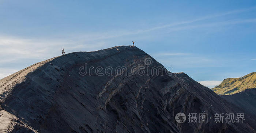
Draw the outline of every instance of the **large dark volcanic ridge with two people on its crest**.
<instances>
[{"instance_id":1,"label":"large dark volcanic ridge with two people on its crest","mask_svg":"<svg viewBox=\"0 0 256 133\"><path fill-rule=\"evenodd\" d=\"M105 72L120 66L129 74ZM215 113L243 112L185 73L165 70L132 46L31 65L0 80L0 132L255 132L249 114L243 123L214 123ZM208 113L208 123L177 123L180 112Z\"/></svg>"}]
</instances>

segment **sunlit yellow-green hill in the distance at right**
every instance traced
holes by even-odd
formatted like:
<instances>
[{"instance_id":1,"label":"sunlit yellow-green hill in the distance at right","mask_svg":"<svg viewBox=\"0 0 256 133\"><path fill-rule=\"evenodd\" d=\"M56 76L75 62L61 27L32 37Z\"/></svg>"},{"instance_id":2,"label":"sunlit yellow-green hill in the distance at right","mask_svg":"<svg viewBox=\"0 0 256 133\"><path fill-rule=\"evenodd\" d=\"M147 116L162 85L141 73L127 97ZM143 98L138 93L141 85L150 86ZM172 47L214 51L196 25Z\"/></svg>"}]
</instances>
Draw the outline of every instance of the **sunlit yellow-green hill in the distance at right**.
<instances>
[{"instance_id":1,"label":"sunlit yellow-green hill in the distance at right","mask_svg":"<svg viewBox=\"0 0 256 133\"><path fill-rule=\"evenodd\" d=\"M256 72L239 78L227 78L219 86L212 88L218 95L231 95L249 88L256 88Z\"/></svg>"}]
</instances>

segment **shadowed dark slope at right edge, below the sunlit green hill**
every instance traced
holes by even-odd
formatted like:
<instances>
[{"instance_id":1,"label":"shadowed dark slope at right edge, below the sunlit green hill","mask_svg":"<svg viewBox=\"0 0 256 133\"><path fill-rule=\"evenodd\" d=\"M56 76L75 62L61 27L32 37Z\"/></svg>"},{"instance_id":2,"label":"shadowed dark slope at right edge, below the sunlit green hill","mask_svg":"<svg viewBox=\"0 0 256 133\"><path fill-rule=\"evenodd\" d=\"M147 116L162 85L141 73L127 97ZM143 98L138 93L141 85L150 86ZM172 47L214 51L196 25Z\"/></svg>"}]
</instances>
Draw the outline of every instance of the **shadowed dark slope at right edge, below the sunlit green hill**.
<instances>
[{"instance_id":1,"label":"shadowed dark slope at right edge, below the sunlit green hill","mask_svg":"<svg viewBox=\"0 0 256 133\"><path fill-rule=\"evenodd\" d=\"M221 97L256 116L256 88Z\"/></svg>"}]
</instances>

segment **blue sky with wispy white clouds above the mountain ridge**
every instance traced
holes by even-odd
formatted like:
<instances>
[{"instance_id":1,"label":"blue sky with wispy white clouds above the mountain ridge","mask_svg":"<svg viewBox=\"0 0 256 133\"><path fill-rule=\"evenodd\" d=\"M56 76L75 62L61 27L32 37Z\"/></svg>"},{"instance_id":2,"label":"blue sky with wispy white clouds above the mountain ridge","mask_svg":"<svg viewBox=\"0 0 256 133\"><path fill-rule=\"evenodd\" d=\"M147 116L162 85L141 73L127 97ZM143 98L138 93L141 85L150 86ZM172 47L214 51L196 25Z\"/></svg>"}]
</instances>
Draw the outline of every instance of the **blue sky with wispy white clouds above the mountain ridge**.
<instances>
[{"instance_id":1,"label":"blue sky with wispy white clouds above the mountain ridge","mask_svg":"<svg viewBox=\"0 0 256 133\"><path fill-rule=\"evenodd\" d=\"M0 0L0 79L61 54L135 45L208 87L256 71L256 1Z\"/></svg>"}]
</instances>

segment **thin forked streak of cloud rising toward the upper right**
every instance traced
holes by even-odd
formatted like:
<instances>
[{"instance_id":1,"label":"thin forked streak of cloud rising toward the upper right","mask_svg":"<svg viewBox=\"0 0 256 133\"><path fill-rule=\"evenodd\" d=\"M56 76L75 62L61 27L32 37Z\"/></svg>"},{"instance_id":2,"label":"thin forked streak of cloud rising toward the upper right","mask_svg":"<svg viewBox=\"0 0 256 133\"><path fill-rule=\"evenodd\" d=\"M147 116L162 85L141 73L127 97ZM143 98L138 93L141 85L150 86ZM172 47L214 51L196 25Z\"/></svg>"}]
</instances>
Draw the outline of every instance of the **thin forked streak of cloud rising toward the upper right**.
<instances>
[{"instance_id":1,"label":"thin forked streak of cloud rising toward the upper right","mask_svg":"<svg viewBox=\"0 0 256 133\"><path fill-rule=\"evenodd\" d=\"M113 32L108 32L108 33L95 33L95 34L86 34L86 35L77 35L76 37L79 38L85 38L85 39L90 39L90 40L99 40L99 39L109 39L109 38L117 38L117 37L122 37L126 35L136 35L136 34L143 34L147 32L151 32L154 30L160 30L163 28L171 28L171 31L177 31L177 30L185 30L189 28L197 28L197 27L210 27L210 26L218 26L218 25L225 25L225 24L238 24L238 23L249 23L249 22L256 22L256 19L245 19L245 20L230 20L230 21L225 21L225 22L216 22L216 23L206 23L206 24L199 24L199 25L192 25L192 26L184 26L185 24L191 24L194 22L199 22L202 20L207 20L207 19L212 19L212 18L217 18L220 16L225 16L225 15L231 15L231 14L238 14L241 12L246 12L250 11L252 9L256 9L256 7L251 7L251 8L246 8L246 9L237 9L233 11L227 11L224 13L220 14L212 14L212 15L207 15L203 17L199 17L196 19L191 19L191 20L184 20L181 22L173 22L170 24L164 24L160 26L155 26L152 28L148 29L140 29L137 31L113 31Z\"/></svg>"}]
</instances>

